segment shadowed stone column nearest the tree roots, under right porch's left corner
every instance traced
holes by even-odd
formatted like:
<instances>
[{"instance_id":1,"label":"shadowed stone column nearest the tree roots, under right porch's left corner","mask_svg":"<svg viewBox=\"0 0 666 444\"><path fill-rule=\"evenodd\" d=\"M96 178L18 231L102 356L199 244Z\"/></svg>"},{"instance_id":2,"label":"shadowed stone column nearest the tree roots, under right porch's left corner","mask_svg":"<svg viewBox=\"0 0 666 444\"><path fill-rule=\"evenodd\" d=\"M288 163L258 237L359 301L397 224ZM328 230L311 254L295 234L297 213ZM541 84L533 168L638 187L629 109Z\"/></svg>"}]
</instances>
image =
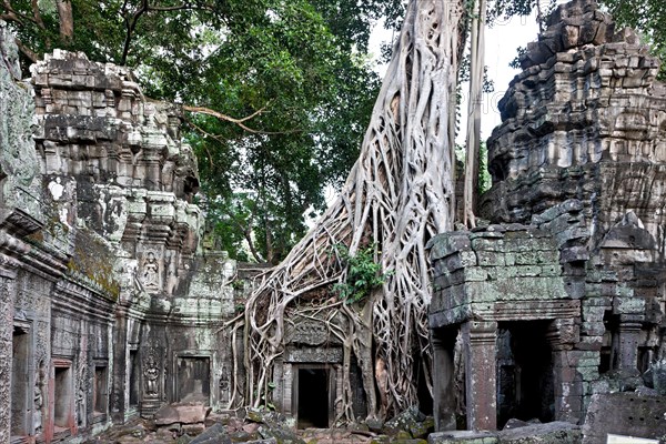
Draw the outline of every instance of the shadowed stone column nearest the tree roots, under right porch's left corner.
<instances>
[{"instance_id":1,"label":"shadowed stone column nearest the tree roots, under right porch's left corner","mask_svg":"<svg viewBox=\"0 0 666 444\"><path fill-rule=\"evenodd\" d=\"M432 331L433 345L433 402L435 430L437 432L456 428L455 421L455 335L454 329Z\"/></svg>"}]
</instances>

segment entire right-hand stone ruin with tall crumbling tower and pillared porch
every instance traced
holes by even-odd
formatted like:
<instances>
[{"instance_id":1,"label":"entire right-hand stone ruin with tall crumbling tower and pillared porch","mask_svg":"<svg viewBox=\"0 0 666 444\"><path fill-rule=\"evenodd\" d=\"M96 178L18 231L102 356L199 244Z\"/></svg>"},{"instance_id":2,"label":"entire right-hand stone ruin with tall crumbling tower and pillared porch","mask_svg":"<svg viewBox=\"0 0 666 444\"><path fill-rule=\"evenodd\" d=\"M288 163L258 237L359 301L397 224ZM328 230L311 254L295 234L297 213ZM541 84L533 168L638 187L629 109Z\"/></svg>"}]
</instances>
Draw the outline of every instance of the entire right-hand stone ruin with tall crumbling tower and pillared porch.
<instances>
[{"instance_id":1,"label":"entire right-hand stone ruin with tall crumbling tower and pillared porch","mask_svg":"<svg viewBox=\"0 0 666 444\"><path fill-rule=\"evenodd\" d=\"M492 223L431 242L435 417L496 430L509 418L584 423L602 408L587 442L660 437L663 397L603 398L643 385L637 376L666 359L659 62L586 1L559 7L521 62L488 140Z\"/></svg>"}]
</instances>

